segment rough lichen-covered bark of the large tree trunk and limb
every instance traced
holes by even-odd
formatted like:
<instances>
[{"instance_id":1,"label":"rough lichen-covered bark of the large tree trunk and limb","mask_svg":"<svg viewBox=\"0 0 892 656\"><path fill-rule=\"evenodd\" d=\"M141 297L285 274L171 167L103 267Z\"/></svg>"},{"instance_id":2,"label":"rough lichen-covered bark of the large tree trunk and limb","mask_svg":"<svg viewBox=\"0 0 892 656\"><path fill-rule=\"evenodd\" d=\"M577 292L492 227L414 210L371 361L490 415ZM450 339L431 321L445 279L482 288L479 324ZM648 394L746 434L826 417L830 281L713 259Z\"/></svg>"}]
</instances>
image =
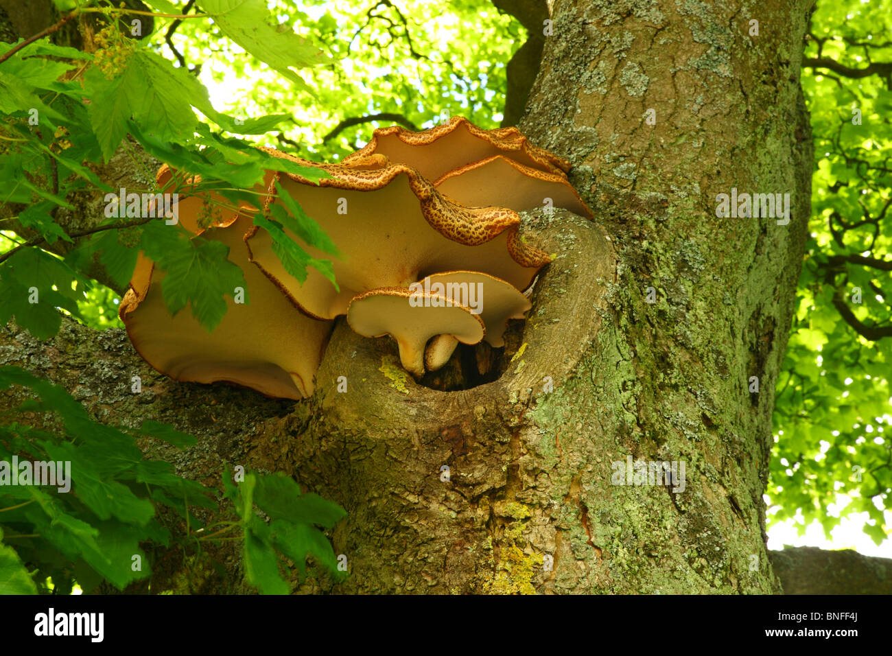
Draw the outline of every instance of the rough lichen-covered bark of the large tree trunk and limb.
<instances>
[{"instance_id":1,"label":"rough lichen-covered bark of the large tree trunk and limb","mask_svg":"<svg viewBox=\"0 0 892 656\"><path fill-rule=\"evenodd\" d=\"M120 331L70 322L47 344L11 324L0 363L49 375L104 420L193 432L187 453L145 444L186 476L216 485L224 462L283 470L342 504L333 539L351 576L300 592L780 592L762 494L809 216L811 6L556 0L520 127L574 163L597 219L524 216L557 257L495 381L418 386L392 341L343 320L301 403L171 381ZM789 225L717 219L731 187L790 193ZM684 491L613 485L612 463L630 456L684 461ZM163 554L153 591L243 590L231 550Z\"/></svg>"}]
</instances>

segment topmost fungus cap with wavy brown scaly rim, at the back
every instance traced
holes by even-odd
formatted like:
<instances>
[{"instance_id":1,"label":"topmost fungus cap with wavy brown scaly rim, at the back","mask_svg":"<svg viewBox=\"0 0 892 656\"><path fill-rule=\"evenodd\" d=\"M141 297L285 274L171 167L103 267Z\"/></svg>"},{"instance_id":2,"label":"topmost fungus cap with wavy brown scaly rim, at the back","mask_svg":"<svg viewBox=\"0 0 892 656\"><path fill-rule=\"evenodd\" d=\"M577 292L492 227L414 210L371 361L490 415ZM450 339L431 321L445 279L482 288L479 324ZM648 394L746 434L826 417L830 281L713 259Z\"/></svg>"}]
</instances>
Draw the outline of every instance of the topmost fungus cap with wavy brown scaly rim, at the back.
<instances>
[{"instance_id":1,"label":"topmost fungus cap with wavy brown scaly rim, at the back","mask_svg":"<svg viewBox=\"0 0 892 656\"><path fill-rule=\"evenodd\" d=\"M345 157L343 163L370 154L384 154L391 162L409 164L431 180L496 154L535 169L554 173L570 170L569 162L532 145L516 128L481 129L459 116L420 132L396 125L376 129L368 144Z\"/></svg>"}]
</instances>

